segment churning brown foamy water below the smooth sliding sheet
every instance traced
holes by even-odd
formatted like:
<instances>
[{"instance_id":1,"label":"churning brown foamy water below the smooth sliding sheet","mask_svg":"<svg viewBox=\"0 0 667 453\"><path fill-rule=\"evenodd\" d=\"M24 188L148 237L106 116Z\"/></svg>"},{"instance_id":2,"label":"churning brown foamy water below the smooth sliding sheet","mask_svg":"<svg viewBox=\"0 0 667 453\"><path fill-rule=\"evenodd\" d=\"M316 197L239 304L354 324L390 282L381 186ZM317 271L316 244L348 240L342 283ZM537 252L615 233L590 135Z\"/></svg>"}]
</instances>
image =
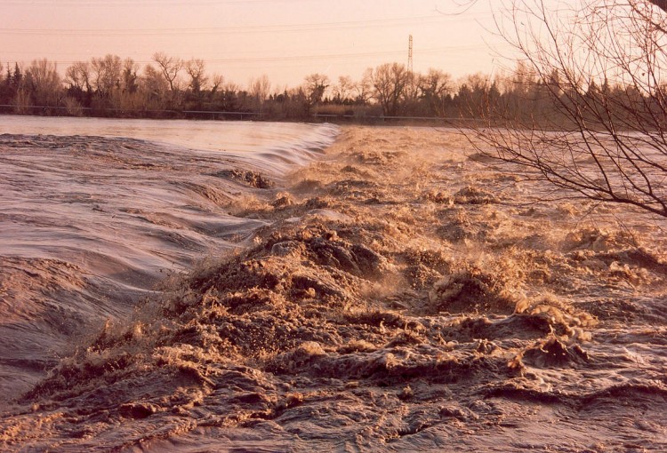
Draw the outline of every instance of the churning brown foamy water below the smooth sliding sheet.
<instances>
[{"instance_id":1,"label":"churning brown foamy water below the smooth sliding sheet","mask_svg":"<svg viewBox=\"0 0 667 453\"><path fill-rule=\"evenodd\" d=\"M212 176L239 187L202 200L254 222L243 246L89 330L5 411L4 447L667 448L660 226L465 151L350 127L282 186Z\"/></svg>"}]
</instances>

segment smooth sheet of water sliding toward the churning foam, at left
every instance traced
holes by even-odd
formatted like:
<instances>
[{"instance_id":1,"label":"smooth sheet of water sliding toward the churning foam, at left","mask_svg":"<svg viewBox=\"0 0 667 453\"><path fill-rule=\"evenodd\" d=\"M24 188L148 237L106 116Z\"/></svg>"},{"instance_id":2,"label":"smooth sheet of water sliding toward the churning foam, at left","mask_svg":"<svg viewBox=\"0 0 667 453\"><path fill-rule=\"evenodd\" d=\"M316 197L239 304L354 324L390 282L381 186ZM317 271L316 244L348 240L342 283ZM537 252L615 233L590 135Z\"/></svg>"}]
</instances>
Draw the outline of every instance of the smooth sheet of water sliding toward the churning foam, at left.
<instances>
[{"instance_id":1,"label":"smooth sheet of water sliding toward the churning foam, at left","mask_svg":"<svg viewBox=\"0 0 667 453\"><path fill-rule=\"evenodd\" d=\"M266 220L229 204L309 162L329 125L0 116L0 395ZM261 176L259 176L261 174ZM4 398L0 397L0 399Z\"/></svg>"}]
</instances>

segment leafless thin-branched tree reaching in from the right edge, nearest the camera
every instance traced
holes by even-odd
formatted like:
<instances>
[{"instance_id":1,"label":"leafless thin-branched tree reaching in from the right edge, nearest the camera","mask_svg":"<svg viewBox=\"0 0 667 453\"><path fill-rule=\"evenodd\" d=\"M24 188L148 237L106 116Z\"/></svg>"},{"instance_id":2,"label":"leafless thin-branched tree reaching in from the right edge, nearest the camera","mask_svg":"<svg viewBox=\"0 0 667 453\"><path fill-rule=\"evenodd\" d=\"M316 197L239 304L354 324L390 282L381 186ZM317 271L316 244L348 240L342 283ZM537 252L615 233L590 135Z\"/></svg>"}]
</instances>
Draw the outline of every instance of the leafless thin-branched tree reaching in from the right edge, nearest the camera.
<instances>
[{"instance_id":1,"label":"leafless thin-branched tree reaching in from the right edge, nearest the camera","mask_svg":"<svg viewBox=\"0 0 667 453\"><path fill-rule=\"evenodd\" d=\"M665 7L599 0L565 11L513 0L499 29L550 112L526 120L490 108L472 141L575 195L667 217Z\"/></svg>"}]
</instances>

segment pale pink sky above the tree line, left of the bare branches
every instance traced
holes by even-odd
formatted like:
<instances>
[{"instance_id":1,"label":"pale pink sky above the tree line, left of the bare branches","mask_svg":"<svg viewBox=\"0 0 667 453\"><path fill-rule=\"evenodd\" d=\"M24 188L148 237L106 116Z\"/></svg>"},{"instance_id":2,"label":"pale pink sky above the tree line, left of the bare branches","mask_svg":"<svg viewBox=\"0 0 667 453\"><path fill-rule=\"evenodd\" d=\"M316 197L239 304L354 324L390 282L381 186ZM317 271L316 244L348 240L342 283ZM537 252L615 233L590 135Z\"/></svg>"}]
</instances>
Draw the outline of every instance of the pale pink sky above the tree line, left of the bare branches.
<instances>
[{"instance_id":1,"label":"pale pink sky above the tree line, left of the bare branches","mask_svg":"<svg viewBox=\"0 0 667 453\"><path fill-rule=\"evenodd\" d=\"M267 75L276 90L406 64L411 35L415 72L502 65L491 0L0 0L0 12L3 65L46 58L61 74L108 53L144 67L165 52L242 86Z\"/></svg>"}]
</instances>

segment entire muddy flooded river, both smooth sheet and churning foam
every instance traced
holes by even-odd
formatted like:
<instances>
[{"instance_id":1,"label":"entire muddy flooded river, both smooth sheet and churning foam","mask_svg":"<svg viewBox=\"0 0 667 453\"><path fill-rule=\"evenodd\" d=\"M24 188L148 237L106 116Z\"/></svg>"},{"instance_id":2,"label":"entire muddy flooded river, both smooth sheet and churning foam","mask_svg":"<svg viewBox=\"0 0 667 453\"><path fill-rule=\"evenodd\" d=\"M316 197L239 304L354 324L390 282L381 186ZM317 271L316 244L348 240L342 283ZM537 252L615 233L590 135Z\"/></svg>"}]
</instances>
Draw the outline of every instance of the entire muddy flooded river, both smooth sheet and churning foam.
<instances>
[{"instance_id":1,"label":"entire muddy flooded river, both smooth sheet and churning foam","mask_svg":"<svg viewBox=\"0 0 667 453\"><path fill-rule=\"evenodd\" d=\"M4 449L667 449L661 220L456 131L141 123L0 136Z\"/></svg>"}]
</instances>

